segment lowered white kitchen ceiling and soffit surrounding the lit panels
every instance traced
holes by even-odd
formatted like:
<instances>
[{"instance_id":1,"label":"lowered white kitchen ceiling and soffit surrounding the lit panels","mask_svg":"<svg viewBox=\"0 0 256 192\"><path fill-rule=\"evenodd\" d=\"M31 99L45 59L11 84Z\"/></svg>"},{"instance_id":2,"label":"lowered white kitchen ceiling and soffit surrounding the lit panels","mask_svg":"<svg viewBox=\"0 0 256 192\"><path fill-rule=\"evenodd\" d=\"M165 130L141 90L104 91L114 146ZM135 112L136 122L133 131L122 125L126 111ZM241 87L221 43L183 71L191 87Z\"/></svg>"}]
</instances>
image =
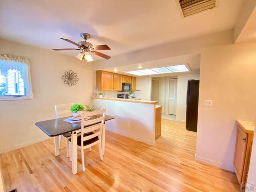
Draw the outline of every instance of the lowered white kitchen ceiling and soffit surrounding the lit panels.
<instances>
[{"instance_id":1,"label":"lowered white kitchen ceiling and soffit surrounding the lit panels","mask_svg":"<svg viewBox=\"0 0 256 192\"><path fill-rule=\"evenodd\" d=\"M150 69L150 68L167 67L167 66L174 66L174 65L182 65L182 64L188 64L188 66L191 69L190 72L194 72L194 71L200 70L200 59L201 59L200 53L188 54L188 55L158 59L158 60L148 61L148 62L143 62L143 63L131 64L131 65L126 65L126 66L119 66L119 67L116 67L118 72L115 72L115 73L138 77L136 75L128 74L125 72ZM138 69L137 66L143 66L143 68ZM114 68L105 68L102 70L114 72L113 71ZM182 72L182 73L189 73L189 72ZM169 73L169 74L156 74L156 75L146 75L146 76L154 76L155 77L155 76L170 76L170 75L176 75L176 74L177 73ZM142 77L142 76L140 76L140 77Z\"/></svg>"}]
</instances>

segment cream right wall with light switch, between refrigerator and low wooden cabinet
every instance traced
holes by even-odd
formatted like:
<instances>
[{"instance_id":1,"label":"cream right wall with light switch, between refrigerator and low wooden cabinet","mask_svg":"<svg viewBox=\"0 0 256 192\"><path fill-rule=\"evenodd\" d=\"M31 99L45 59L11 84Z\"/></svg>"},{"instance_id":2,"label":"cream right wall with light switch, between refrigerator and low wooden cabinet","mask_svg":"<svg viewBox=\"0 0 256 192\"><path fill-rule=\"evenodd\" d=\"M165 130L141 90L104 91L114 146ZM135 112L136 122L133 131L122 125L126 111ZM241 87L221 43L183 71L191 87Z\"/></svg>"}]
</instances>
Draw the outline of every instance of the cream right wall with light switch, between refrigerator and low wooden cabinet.
<instances>
[{"instance_id":1,"label":"cream right wall with light switch, between refrigerator and low wooden cabinet","mask_svg":"<svg viewBox=\"0 0 256 192\"><path fill-rule=\"evenodd\" d=\"M235 120L256 116L255 50L256 42L202 50L196 159L234 170Z\"/></svg>"}]
</instances>

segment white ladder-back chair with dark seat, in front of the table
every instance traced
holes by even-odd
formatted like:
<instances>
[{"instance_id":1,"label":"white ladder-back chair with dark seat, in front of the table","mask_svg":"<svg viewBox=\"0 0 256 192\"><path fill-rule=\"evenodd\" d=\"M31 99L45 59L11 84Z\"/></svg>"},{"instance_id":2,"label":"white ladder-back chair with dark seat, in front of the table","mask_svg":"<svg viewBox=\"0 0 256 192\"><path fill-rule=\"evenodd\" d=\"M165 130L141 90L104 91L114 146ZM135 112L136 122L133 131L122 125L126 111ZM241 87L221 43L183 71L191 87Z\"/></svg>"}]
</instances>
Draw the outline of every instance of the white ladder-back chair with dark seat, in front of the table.
<instances>
[{"instance_id":1,"label":"white ladder-back chair with dark seat, in front of the table","mask_svg":"<svg viewBox=\"0 0 256 192\"><path fill-rule=\"evenodd\" d=\"M84 149L89 148L89 151L91 151L91 147L98 144L100 160L103 160L101 137L105 113L106 109L93 112L82 111L81 135L77 137L77 145L78 148L81 148L83 171L85 171ZM96 118L84 121L83 119L86 116L96 116ZM71 138L68 140L71 142Z\"/></svg>"}]
</instances>

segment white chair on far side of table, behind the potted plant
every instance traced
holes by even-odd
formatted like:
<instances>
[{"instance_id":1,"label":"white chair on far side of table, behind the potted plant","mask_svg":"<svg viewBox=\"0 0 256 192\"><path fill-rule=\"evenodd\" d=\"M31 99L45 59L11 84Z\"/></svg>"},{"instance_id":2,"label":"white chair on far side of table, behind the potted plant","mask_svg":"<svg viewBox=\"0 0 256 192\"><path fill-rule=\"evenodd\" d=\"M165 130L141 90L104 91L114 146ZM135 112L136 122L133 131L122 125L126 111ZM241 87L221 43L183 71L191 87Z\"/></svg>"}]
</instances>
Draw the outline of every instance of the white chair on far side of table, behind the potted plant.
<instances>
[{"instance_id":1,"label":"white chair on far side of table, behind the potted plant","mask_svg":"<svg viewBox=\"0 0 256 192\"><path fill-rule=\"evenodd\" d=\"M62 118L62 117L67 117L67 116L72 116L72 112L70 112L70 107L73 105L74 103L69 103L69 104L61 104L61 105L54 105L55 107L55 114L56 114L56 119L58 118ZM61 144L61 138L62 136L66 139L66 148L67 148L67 157L69 157L70 155L70 146L69 146L69 142L68 139L71 137L70 133L66 133L63 135L59 136L59 149L60 149L60 144Z\"/></svg>"}]
</instances>

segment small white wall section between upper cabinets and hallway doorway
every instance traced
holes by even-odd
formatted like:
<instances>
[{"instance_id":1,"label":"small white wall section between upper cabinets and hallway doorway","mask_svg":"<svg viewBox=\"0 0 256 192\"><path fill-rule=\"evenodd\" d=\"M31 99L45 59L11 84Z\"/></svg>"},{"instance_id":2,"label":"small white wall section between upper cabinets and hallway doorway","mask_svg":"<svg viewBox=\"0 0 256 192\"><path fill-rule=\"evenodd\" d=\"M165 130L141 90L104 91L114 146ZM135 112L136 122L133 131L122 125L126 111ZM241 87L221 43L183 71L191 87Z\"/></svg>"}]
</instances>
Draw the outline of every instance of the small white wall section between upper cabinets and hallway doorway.
<instances>
[{"instance_id":1,"label":"small white wall section between upper cabinets and hallway doorway","mask_svg":"<svg viewBox=\"0 0 256 192\"><path fill-rule=\"evenodd\" d=\"M136 77L136 89L140 90L141 100L151 100L151 77Z\"/></svg>"}]
</instances>

